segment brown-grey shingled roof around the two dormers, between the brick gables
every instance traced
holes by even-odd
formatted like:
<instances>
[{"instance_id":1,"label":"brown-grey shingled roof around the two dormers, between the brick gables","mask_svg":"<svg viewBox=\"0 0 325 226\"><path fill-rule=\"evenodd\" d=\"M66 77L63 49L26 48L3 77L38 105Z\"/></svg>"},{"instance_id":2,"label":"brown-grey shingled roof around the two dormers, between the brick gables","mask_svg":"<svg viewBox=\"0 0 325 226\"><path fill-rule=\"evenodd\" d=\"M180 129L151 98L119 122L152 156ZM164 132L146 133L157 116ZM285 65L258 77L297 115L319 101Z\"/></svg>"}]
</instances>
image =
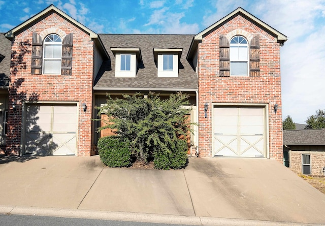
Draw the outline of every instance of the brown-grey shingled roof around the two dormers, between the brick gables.
<instances>
[{"instance_id":1,"label":"brown-grey shingled roof around the two dormers, between the brick gables","mask_svg":"<svg viewBox=\"0 0 325 226\"><path fill-rule=\"evenodd\" d=\"M180 90L198 89L198 78L186 59L193 35L107 35L100 38L110 60L103 63L94 82L95 90ZM140 48L142 62L138 63L136 77L115 77L115 56L111 48ZM157 77L153 48L183 49L178 78Z\"/></svg>"}]
</instances>

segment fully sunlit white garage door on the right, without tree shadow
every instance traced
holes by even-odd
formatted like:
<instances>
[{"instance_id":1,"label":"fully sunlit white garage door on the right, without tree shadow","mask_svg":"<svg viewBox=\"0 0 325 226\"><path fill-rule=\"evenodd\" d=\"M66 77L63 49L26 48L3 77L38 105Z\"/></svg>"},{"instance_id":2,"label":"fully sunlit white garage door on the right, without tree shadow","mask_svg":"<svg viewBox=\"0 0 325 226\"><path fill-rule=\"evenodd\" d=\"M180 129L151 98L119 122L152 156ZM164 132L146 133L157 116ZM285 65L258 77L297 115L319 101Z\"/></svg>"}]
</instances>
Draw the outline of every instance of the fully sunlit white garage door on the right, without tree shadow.
<instances>
[{"instance_id":1,"label":"fully sunlit white garage door on the right, without tree shadow","mask_svg":"<svg viewBox=\"0 0 325 226\"><path fill-rule=\"evenodd\" d=\"M213 109L214 156L266 157L265 108Z\"/></svg>"}]
</instances>

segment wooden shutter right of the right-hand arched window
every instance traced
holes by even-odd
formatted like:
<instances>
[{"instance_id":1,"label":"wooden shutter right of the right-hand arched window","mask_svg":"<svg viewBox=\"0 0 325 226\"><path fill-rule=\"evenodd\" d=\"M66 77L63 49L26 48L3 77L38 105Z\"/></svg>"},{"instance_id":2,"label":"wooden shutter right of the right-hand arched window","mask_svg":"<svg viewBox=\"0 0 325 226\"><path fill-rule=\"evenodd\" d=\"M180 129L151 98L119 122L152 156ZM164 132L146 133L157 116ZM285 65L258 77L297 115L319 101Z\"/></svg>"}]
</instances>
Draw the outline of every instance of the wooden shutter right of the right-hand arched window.
<instances>
[{"instance_id":1,"label":"wooden shutter right of the right-hand arched window","mask_svg":"<svg viewBox=\"0 0 325 226\"><path fill-rule=\"evenodd\" d=\"M259 77L259 36L252 38L249 45L249 77Z\"/></svg>"}]
</instances>

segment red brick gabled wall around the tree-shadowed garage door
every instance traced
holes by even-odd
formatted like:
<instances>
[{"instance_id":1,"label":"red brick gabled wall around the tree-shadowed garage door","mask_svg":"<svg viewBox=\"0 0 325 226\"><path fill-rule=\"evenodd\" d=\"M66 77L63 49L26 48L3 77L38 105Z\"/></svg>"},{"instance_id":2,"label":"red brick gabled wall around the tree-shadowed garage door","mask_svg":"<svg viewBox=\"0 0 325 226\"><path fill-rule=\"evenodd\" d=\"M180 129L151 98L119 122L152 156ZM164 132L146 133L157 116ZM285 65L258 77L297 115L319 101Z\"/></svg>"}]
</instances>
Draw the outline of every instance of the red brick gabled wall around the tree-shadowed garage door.
<instances>
[{"instance_id":1,"label":"red brick gabled wall around the tree-shadowed garage door","mask_svg":"<svg viewBox=\"0 0 325 226\"><path fill-rule=\"evenodd\" d=\"M73 33L72 75L32 75L31 42L33 31L44 38ZM55 13L36 22L15 36L12 43L11 86L9 91L9 124L7 153L19 154L21 142L22 103L25 100L78 102L79 122L77 152L90 155L93 41L89 35ZM12 104L18 103L16 111ZM82 111L82 103L88 110Z\"/></svg>"}]
</instances>

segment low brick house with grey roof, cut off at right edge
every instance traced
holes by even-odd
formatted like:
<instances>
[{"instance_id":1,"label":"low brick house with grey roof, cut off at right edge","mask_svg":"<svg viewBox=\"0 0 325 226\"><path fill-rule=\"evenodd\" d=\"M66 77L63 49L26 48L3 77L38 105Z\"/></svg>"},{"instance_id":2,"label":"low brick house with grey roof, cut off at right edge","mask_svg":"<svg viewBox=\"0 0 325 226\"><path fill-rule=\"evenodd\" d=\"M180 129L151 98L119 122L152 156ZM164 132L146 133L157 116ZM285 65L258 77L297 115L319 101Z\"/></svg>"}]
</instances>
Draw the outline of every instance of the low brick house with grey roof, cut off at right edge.
<instances>
[{"instance_id":1,"label":"low brick house with grey roof, cut off at right edge","mask_svg":"<svg viewBox=\"0 0 325 226\"><path fill-rule=\"evenodd\" d=\"M324 176L325 128L283 131L284 164L291 170Z\"/></svg>"}]
</instances>

